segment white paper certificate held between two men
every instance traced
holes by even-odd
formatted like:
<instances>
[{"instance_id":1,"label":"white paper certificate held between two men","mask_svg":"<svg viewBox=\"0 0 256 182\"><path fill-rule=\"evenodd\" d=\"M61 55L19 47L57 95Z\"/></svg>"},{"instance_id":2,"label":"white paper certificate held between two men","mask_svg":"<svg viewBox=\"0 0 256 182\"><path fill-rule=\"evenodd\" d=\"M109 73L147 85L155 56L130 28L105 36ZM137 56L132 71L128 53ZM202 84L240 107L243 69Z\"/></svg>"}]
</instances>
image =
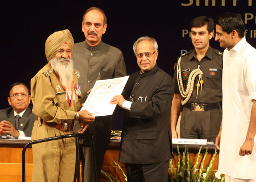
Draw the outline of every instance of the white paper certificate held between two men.
<instances>
[{"instance_id":1,"label":"white paper certificate held between two men","mask_svg":"<svg viewBox=\"0 0 256 182\"><path fill-rule=\"evenodd\" d=\"M121 95L129 76L108 80L97 80L81 110L88 110L94 116L112 115L116 104L110 104L115 95Z\"/></svg>"}]
</instances>

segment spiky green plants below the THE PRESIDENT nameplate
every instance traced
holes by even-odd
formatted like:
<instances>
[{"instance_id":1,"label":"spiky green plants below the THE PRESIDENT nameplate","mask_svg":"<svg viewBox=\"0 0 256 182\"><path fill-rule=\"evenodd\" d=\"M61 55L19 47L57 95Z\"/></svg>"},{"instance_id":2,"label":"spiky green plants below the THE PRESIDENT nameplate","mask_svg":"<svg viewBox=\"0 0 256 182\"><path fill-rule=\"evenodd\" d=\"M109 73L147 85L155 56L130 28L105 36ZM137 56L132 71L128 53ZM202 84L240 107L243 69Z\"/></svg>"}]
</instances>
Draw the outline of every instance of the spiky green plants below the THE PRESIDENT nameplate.
<instances>
[{"instance_id":1,"label":"spiky green plants below the THE PRESIDENT nameplate","mask_svg":"<svg viewBox=\"0 0 256 182\"><path fill-rule=\"evenodd\" d=\"M212 163L217 154L217 149L215 149L215 153L209 165L207 166L207 168L203 169L204 160L208 154L208 148L206 148L205 154L202 158L202 163L200 163L199 169L196 169L198 166L201 150L202 150L202 146L197 152L195 165L193 165L193 163L189 160L189 150L187 146L185 146L185 150L181 158L179 146L177 145L177 151L178 151L177 170L175 173L174 166L173 166L173 159L171 159L170 160L171 172L170 172L170 177L168 178L169 182L223 182L225 180L224 175L220 175L220 174L215 175L215 173L211 169Z\"/></svg>"}]
</instances>

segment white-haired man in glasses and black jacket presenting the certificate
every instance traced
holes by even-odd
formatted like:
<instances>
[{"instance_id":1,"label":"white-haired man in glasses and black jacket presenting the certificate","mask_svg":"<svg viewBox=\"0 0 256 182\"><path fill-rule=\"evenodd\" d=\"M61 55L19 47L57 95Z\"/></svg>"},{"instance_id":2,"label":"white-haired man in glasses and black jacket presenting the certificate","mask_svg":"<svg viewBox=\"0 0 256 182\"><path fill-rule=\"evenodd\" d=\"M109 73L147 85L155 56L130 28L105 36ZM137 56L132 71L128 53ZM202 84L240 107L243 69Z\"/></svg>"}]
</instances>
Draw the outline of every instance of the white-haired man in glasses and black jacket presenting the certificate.
<instances>
[{"instance_id":1,"label":"white-haired man in glasses and black jacket presenting the certificate","mask_svg":"<svg viewBox=\"0 0 256 182\"><path fill-rule=\"evenodd\" d=\"M154 38L139 38L134 52L141 70L129 77L122 95L111 100L125 109L119 162L125 163L128 182L167 182L173 156L169 122L173 81L156 64Z\"/></svg>"}]
</instances>

